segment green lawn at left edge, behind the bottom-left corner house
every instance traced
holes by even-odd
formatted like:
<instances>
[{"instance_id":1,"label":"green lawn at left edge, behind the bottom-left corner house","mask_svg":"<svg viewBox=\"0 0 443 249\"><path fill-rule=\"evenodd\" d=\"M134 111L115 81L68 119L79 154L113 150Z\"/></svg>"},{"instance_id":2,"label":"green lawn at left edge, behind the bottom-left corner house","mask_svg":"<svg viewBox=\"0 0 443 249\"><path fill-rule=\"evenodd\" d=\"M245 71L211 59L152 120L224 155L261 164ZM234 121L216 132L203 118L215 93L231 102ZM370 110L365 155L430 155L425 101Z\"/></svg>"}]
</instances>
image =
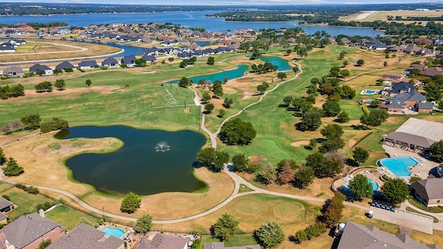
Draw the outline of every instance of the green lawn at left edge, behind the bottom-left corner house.
<instances>
[{"instance_id":1,"label":"green lawn at left edge, behind the bottom-left corner house","mask_svg":"<svg viewBox=\"0 0 443 249\"><path fill-rule=\"evenodd\" d=\"M28 194L23 190L19 190L14 187L10 190L6 190L0 193L1 195L6 194L9 196L12 203L17 205L17 208L8 212L8 216L10 219L15 220L24 214L30 214L37 211L37 205L43 204L46 201L53 202L51 199L48 199L39 194Z\"/></svg>"}]
</instances>

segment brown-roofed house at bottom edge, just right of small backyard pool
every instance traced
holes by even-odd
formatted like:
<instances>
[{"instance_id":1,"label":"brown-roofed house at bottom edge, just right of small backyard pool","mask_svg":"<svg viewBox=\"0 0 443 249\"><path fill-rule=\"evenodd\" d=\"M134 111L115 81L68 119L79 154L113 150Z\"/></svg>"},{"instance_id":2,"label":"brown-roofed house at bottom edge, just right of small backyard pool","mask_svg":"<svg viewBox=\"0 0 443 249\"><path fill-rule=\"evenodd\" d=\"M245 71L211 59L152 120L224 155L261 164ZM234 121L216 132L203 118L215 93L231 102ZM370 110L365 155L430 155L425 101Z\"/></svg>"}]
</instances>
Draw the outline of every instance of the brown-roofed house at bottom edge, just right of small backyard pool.
<instances>
[{"instance_id":1,"label":"brown-roofed house at bottom edge, just right of small backyard pool","mask_svg":"<svg viewBox=\"0 0 443 249\"><path fill-rule=\"evenodd\" d=\"M156 233L152 239L143 238L134 249L188 249L188 239Z\"/></svg>"}]
</instances>

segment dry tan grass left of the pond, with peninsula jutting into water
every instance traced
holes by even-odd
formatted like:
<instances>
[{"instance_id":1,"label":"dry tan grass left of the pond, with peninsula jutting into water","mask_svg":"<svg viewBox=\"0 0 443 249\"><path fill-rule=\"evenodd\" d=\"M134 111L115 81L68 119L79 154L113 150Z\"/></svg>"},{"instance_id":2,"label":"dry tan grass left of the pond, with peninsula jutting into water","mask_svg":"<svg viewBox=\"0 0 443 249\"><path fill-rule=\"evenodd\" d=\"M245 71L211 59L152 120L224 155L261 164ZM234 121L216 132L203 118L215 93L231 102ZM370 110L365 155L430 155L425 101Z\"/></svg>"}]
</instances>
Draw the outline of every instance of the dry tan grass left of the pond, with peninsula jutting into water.
<instances>
[{"instance_id":1,"label":"dry tan grass left of the pond, with peninsula jutting into water","mask_svg":"<svg viewBox=\"0 0 443 249\"><path fill-rule=\"evenodd\" d=\"M78 142L82 146L74 146ZM51 149L49 145L57 143L60 149ZM64 159L86 151L112 151L123 143L116 138L57 140L53 134L21 140L14 145L3 148L5 154L12 156L24 167L24 174L8 177L8 180L31 185L55 187L81 196L93 191L86 184L69 181L70 170L64 166Z\"/></svg>"}]
</instances>

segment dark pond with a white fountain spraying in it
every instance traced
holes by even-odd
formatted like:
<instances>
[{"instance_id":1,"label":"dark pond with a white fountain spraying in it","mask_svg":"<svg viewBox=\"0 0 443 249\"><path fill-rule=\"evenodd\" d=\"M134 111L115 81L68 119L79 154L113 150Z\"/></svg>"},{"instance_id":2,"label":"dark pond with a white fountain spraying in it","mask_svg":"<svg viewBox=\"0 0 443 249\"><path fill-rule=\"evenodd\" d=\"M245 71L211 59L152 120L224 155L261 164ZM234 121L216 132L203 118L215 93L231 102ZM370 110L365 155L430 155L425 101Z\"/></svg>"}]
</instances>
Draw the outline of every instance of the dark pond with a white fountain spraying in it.
<instances>
[{"instance_id":1,"label":"dark pond with a white fountain spraying in it","mask_svg":"<svg viewBox=\"0 0 443 249\"><path fill-rule=\"evenodd\" d=\"M59 139L115 137L123 147L107 154L85 153L66 160L73 178L96 190L124 195L195 192L206 184L192 172L206 138L194 131L158 131L125 126L73 127L55 135Z\"/></svg>"}]
</instances>

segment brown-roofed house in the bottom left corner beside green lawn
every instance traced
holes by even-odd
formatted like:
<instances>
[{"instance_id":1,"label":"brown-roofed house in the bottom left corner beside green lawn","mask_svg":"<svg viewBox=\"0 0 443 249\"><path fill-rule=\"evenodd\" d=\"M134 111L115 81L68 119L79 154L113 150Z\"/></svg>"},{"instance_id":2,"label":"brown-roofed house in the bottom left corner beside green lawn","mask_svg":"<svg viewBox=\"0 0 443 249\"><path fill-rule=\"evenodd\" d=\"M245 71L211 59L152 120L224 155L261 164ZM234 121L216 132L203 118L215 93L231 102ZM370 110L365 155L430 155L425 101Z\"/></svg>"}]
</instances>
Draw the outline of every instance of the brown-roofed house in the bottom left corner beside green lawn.
<instances>
[{"instance_id":1,"label":"brown-roofed house in the bottom left corner beside green lawn","mask_svg":"<svg viewBox=\"0 0 443 249\"><path fill-rule=\"evenodd\" d=\"M50 239L56 241L65 234L65 228L44 216L43 210L37 214L25 214L0 230L0 246L13 249L35 249Z\"/></svg>"}]
</instances>

